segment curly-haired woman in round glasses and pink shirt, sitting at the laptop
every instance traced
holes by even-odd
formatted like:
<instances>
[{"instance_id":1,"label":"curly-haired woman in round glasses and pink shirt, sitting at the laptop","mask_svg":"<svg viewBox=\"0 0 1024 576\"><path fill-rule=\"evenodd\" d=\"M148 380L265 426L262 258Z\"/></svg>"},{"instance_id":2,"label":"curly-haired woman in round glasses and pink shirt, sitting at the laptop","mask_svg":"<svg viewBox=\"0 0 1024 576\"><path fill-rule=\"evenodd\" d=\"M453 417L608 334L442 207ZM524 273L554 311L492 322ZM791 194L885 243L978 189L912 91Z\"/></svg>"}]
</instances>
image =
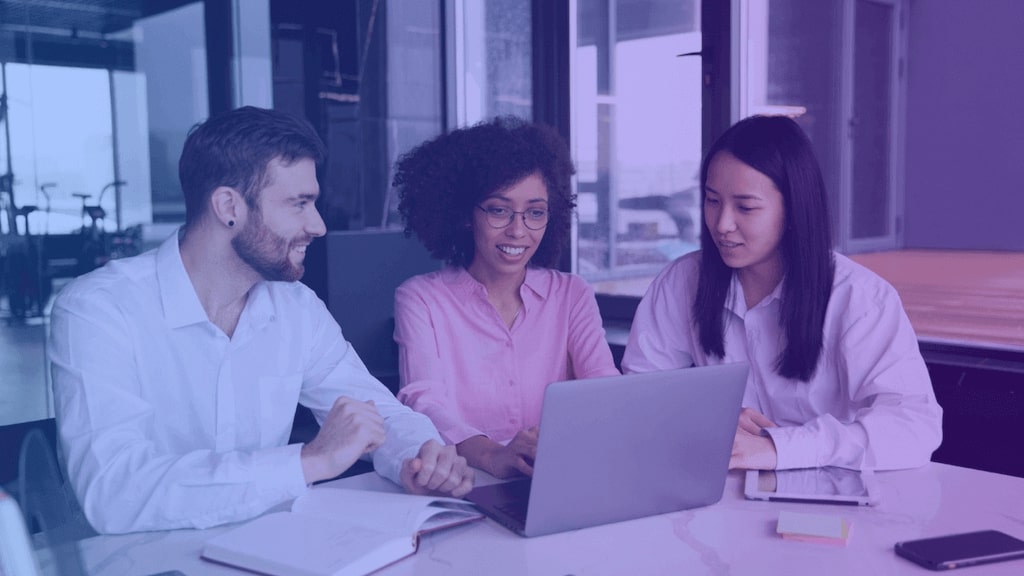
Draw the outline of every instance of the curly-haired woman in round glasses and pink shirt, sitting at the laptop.
<instances>
[{"instance_id":1,"label":"curly-haired woman in round glasses and pink shirt, sitting at the laptop","mask_svg":"<svg viewBox=\"0 0 1024 576\"><path fill-rule=\"evenodd\" d=\"M568 242L573 171L554 130L511 117L396 166L407 233L449 264L395 292L398 399L499 478L532 474L548 383L618 373L593 289L548 268Z\"/></svg>"}]
</instances>

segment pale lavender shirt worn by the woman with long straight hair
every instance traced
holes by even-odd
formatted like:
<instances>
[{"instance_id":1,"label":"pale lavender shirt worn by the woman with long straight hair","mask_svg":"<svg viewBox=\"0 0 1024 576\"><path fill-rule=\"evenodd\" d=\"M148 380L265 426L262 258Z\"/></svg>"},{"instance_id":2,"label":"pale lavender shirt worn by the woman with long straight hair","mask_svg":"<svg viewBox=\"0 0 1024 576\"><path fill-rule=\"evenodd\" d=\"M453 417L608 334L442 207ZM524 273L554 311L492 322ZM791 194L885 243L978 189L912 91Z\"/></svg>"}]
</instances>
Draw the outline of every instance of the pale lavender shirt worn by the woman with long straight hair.
<instances>
[{"instance_id":1,"label":"pale lavender shirt worn by the woman with long straight hair","mask_svg":"<svg viewBox=\"0 0 1024 576\"><path fill-rule=\"evenodd\" d=\"M942 440L942 409L891 285L836 254L821 358L810 381L802 382L775 372L785 346L781 284L748 310L733 275L725 357L705 354L691 311L699 261L699 252L682 256L651 284L633 320L625 372L750 363L743 405L778 424L768 433L780 469L907 468L929 461Z\"/></svg>"}]
</instances>

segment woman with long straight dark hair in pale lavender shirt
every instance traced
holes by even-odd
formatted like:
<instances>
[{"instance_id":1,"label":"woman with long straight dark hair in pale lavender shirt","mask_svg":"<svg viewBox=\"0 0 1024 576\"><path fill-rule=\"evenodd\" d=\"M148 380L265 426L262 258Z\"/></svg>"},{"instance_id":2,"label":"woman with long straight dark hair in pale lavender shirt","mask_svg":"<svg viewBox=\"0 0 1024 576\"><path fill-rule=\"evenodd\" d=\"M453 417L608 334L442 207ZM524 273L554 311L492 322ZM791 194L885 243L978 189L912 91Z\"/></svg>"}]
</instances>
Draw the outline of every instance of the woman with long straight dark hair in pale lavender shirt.
<instances>
[{"instance_id":1,"label":"woman with long straight dark hair in pale lavender shirt","mask_svg":"<svg viewBox=\"0 0 1024 576\"><path fill-rule=\"evenodd\" d=\"M627 372L748 362L731 467L905 468L942 409L895 289L831 250L827 195L785 117L730 127L700 169L700 251L654 280Z\"/></svg>"}]
</instances>

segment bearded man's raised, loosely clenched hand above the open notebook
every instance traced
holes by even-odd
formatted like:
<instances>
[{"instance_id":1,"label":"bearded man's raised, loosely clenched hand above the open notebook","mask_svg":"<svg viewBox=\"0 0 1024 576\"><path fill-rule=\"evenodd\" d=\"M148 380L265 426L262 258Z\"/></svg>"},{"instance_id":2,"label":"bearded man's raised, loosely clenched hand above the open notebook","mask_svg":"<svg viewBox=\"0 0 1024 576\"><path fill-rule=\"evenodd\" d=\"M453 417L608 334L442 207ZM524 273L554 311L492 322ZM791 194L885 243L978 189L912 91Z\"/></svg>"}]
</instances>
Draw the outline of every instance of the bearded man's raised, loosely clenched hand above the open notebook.
<instances>
[{"instance_id":1,"label":"bearded man's raised, loosely clenched hand above the open notebook","mask_svg":"<svg viewBox=\"0 0 1024 576\"><path fill-rule=\"evenodd\" d=\"M335 478L359 456L384 444L384 418L374 401L339 397L319 433L302 447L302 474L307 484Z\"/></svg>"}]
</instances>

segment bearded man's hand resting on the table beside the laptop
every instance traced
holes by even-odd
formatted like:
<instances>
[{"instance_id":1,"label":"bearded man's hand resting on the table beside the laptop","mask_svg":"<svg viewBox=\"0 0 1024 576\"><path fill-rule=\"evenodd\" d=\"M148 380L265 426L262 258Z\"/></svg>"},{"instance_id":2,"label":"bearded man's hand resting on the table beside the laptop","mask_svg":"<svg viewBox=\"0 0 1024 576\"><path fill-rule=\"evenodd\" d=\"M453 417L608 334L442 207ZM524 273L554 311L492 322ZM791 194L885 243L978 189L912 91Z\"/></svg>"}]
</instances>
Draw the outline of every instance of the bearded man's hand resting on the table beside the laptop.
<instances>
[{"instance_id":1,"label":"bearded man's hand resting on the table beside the laptop","mask_svg":"<svg viewBox=\"0 0 1024 576\"><path fill-rule=\"evenodd\" d=\"M413 494L439 494L461 498L473 489L473 469L456 453L455 446L428 440L416 458L401 463L401 485Z\"/></svg>"}]
</instances>

